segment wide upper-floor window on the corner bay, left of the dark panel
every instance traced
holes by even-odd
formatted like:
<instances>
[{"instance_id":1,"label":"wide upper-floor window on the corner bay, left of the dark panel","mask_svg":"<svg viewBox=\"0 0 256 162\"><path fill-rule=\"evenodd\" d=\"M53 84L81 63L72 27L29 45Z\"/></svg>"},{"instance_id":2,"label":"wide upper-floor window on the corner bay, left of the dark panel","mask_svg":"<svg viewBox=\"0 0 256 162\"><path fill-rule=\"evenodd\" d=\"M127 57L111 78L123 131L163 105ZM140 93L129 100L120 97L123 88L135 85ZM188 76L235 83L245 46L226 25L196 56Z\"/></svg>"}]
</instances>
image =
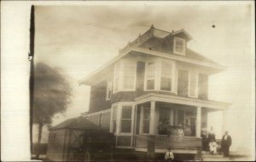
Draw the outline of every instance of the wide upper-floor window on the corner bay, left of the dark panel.
<instances>
[{"instance_id":1,"label":"wide upper-floor window on the corner bay, left of the dark panel","mask_svg":"<svg viewBox=\"0 0 256 162\"><path fill-rule=\"evenodd\" d=\"M136 64L127 62L124 64L123 89L135 90Z\"/></svg>"}]
</instances>

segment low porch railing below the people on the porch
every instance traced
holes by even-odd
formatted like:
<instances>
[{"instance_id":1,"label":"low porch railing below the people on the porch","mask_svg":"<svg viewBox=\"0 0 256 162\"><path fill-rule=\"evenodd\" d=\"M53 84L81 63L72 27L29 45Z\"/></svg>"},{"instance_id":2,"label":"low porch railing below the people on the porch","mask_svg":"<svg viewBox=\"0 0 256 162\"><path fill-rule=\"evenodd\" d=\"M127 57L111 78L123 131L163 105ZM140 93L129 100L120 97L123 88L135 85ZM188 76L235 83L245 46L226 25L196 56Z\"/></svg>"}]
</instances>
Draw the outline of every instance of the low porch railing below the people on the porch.
<instances>
[{"instance_id":1,"label":"low porch railing below the people on the porch","mask_svg":"<svg viewBox=\"0 0 256 162\"><path fill-rule=\"evenodd\" d=\"M136 148L168 148L172 149L196 149L201 147L201 138L198 137L177 137L166 135L137 135Z\"/></svg>"}]
</instances>

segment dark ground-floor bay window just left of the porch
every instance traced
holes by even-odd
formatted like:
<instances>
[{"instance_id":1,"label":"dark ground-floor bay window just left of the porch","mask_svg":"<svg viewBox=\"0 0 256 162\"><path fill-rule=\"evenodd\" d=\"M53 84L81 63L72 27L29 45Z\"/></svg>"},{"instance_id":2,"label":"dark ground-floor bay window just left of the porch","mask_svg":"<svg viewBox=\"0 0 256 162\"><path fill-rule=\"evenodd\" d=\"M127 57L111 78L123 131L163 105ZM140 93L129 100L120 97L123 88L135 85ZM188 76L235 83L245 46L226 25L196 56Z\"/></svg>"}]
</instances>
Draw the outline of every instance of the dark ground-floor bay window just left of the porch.
<instances>
[{"instance_id":1,"label":"dark ground-floor bay window just left of the porch","mask_svg":"<svg viewBox=\"0 0 256 162\"><path fill-rule=\"evenodd\" d=\"M121 129L122 133L131 133L131 106L122 107Z\"/></svg>"}]
</instances>

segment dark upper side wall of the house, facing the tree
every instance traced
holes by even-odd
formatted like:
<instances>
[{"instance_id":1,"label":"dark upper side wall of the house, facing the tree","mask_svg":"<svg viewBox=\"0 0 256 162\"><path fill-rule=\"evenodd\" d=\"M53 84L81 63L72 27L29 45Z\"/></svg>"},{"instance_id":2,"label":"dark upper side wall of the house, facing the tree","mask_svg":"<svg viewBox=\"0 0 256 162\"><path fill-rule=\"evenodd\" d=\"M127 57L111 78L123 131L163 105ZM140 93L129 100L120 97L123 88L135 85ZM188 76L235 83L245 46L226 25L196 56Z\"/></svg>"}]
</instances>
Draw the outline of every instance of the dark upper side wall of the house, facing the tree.
<instances>
[{"instance_id":1,"label":"dark upper side wall of the house, facing the tree","mask_svg":"<svg viewBox=\"0 0 256 162\"><path fill-rule=\"evenodd\" d=\"M90 88L90 107L89 112L97 112L111 108L110 100L106 100L107 80L101 81Z\"/></svg>"}]
</instances>

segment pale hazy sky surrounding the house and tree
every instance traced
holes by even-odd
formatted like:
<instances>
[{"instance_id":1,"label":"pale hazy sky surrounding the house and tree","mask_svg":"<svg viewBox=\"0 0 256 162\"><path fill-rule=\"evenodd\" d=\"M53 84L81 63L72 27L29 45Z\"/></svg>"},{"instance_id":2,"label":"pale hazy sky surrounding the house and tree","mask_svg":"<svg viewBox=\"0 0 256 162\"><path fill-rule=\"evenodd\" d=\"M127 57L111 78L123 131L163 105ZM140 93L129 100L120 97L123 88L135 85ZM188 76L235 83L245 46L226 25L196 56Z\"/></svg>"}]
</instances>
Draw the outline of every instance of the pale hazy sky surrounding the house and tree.
<instances>
[{"instance_id":1,"label":"pale hazy sky surrounding the house and tree","mask_svg":"<svg viewBox=\"0 0 256 162\"><path fill-rule=\"evenodd\" d=\"M188 47L227 67L212 75L209 98L232 103L228 111L234 148L248 148L254 132L253 5L248 3L98 3L35 8L35 61L61 68L73 87L72 103L53 125L88 110L90 87L79 80L118 54L119 48L148 31L184 29ZM215 25L215 27L212 27ZM218 113L209 121L221 136Z\"/></svg>"}]
</instances>

